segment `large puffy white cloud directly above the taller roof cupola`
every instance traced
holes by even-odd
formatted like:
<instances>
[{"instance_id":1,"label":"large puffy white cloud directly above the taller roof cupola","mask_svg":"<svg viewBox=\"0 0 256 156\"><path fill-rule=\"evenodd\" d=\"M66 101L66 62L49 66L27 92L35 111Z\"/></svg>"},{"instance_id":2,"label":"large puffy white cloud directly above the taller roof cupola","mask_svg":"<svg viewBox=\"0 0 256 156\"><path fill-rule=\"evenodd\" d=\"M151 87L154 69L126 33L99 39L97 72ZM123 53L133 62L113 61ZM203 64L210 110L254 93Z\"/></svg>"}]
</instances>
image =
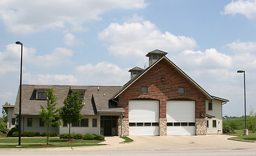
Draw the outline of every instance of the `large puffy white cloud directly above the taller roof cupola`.
<instances>
[{"instance_id":1,"label":"large puffy white cloud directly above the taller roof cupola","mask_svg":"<svg viewBox=\"0 0 256 156\"><path fill-rule=\"evenodd\" d=\"M125 22L122 25L111 23L98 33L98 38L108 44L111 55L126 58L143 57L152 49L177 52L197 47L193 38L175 36L171 32L162 33L150 21Z\"/></svg>"}]
</instances>

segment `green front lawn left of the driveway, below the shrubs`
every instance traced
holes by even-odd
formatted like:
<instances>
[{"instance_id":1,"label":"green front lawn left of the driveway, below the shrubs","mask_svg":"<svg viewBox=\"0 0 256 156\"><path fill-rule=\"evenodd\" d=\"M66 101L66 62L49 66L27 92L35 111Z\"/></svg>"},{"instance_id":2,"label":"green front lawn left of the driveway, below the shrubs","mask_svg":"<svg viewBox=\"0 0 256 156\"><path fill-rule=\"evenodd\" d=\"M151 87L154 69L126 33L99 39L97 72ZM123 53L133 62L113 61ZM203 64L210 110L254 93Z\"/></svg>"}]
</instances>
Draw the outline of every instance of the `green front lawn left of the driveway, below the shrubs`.
<instances>
[{"instance_id":1,"label":"green front lawn left of the driveway, below the shrubs","mask_svg":"<svg viewBox=\"0 0 256 156\"><path fill-rule=\"evenodd\" d=\"M60 148L60 147L76 147L76 146L100 146L98 144L102 140L75 140L74 142L66 142L68 139L50 138L49 144L53 146L42 146L46 144L46 138L21 138L21 147L16 147L18 138L0 138L0 148Z\"/></svg>"}]
</instances>

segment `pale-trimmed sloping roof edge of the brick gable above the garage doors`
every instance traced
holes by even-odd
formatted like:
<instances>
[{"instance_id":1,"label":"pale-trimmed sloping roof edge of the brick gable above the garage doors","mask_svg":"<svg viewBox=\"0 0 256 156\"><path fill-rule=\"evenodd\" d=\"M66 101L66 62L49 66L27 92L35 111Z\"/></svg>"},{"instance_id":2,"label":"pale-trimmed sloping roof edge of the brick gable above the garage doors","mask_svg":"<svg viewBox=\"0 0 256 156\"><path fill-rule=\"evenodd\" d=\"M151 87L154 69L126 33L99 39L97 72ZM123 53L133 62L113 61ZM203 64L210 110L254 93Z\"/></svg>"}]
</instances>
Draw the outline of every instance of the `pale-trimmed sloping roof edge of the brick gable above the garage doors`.
<instances>
[{"instance_id":1,"label":"pale-trimmed sloping roof edge of the brick gable above the garage doors","mask_svg":"<svg viewBox=\"0 0 256 156\"><path fill-rule=\"evenodd\" d=\"M137 81L137 79L139 79L141 76L143 76L145 73L147 73L152 67L154 67L156 64L158 64L158 62L160 62L161 60L165 60L170 66L175 68L175 70L177 70L178 73L180 73L183 77L185 77L185 79L190 81L190 83L192 83L193 86L198 88L206 96L207 99L212 99L212 96L210 96L210 94L208 94L208 92L206 92L201 86L199 86L197 83L195 83L195 81L193 81L193 79L191 79L186 73L184 73L182 70L180 70L180 68L178 68L178 66L176 66L173 62L171 62L171 60L167 59L167 57L165 57L165 56L162 57L161 59L157 60L156 62L154 62L154 64L149 66L142 73L140 73L139 75L135 76L133 79L128 81L128 83L126 83L121 88L121 90L119 90L119 92L117 92L117 94L115 94L115 96L113 96L113 99L117 98L122 92L124 92L124 90L126 90L126 88L128 88L130 85L132 85L135 81Z\"/></svg>"}]
</instances>

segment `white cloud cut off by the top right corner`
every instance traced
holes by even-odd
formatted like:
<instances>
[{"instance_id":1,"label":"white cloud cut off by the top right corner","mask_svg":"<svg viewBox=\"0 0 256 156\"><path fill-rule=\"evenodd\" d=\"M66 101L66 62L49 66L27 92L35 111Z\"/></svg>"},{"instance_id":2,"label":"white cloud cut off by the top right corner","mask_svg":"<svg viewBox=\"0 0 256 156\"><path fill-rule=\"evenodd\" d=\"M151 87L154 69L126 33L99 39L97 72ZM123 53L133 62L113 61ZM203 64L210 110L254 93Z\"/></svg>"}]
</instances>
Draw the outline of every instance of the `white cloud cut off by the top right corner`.
<instances>
[{"instance_id":1,"label":"white cloud cut off by the top right corner","mask_svg":"<svg viewBox=\"0 0 256 156\"><path fill-rule=\"evenodd\" d=\"M256 0L238 0L232 1L224 7L222 14L243 14L248 19L256 17Z\"/></svg>"}]
</instances>

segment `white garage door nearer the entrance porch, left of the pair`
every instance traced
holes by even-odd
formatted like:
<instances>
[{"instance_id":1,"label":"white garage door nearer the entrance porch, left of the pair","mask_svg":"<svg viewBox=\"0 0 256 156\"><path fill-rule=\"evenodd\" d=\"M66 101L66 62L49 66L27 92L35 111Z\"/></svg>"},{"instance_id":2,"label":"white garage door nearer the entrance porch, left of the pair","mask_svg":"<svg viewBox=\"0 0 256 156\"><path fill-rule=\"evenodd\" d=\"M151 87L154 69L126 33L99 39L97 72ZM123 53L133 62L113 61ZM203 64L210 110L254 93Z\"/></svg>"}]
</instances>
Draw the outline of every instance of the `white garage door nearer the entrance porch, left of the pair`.
<instances>
[{"instance_id":1,"label":"white garage door nearer the entrance porch, left of the pair","mask_svg":"<svg viewBox=\"0 0 256 156\"><path fill-rule=\"evenodd\" d=\"M158 101L129 101L129 135L159 135Z\"/></svg>"}]
</instances>

